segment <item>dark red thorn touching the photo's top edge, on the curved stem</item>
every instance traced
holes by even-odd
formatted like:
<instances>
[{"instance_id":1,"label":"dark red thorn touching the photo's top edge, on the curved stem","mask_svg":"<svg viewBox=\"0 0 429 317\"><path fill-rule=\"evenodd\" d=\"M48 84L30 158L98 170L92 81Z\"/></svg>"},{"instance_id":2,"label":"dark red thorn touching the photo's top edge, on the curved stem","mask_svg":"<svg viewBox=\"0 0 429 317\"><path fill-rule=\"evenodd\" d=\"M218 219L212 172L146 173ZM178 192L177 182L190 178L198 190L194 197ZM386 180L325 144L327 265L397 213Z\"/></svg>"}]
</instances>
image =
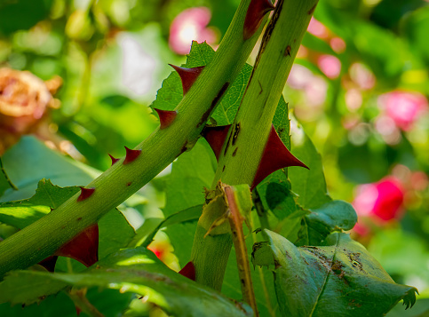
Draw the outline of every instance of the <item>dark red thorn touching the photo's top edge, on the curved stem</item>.
<instances>
[{"instance_id":1,"label":"dark red thorn touching the photo's top edge, on the curved stem","mask_svg":"<svg viewBox=\"0 0 429 317\"><path fill-rule=\"evenodd\" d=\"M274 10L270 0L251 0L244 19L243 39L249 39L258 30L264 15Z\"/></svg>"}]
</instances>

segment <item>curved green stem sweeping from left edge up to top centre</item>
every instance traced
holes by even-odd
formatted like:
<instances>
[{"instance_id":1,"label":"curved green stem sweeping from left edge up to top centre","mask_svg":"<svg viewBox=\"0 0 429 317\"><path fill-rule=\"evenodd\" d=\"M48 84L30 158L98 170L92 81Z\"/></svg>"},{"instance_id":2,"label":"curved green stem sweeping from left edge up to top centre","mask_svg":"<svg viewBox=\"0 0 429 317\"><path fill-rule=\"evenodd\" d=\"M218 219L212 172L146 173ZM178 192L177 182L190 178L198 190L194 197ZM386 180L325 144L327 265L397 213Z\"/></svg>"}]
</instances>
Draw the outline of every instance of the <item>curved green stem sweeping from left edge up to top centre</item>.
<instances>
[{"instance_id":1,"label":"curved green stem sweeping from left edge up to top centre","mask_svg":"<svg viewBox=\"0 0 429 317\"><path fill-rule=\"evenodd\" d=\"M218 99L240 72L260 34L261 28L250 39L243 39L249 4L250 0L242 0L211 63L176 108L178 115L174 122L166 129L158 128L135 147L141 149L136 160L127 164L123 164L123 159L115 162L86 186L95 188L88 199L77 202L78 194L75 194L44 218L1 242L0 277L52 255L195 144Z\"/></svg>"}]
</instances>

